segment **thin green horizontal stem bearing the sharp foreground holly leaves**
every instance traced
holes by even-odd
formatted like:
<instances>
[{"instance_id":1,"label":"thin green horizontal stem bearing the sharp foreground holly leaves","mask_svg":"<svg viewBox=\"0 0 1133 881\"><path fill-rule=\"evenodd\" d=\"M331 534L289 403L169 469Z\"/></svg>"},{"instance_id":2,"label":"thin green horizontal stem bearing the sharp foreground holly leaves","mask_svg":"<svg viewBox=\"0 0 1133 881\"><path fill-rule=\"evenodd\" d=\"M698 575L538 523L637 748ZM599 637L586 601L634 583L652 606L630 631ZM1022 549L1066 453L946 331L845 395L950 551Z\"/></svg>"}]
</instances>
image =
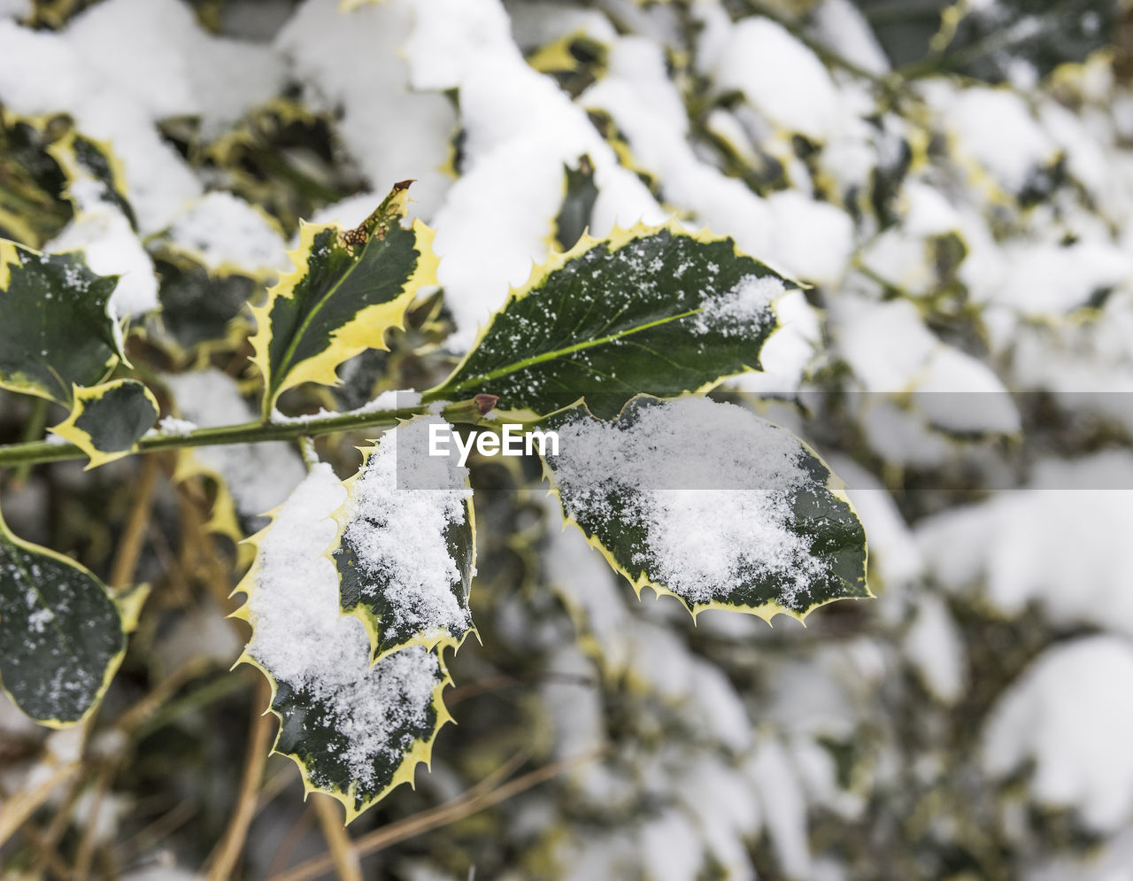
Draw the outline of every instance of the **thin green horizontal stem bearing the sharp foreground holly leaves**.
<instances>
[{"instance_id":1,"label":"thin green horizontal stem bearing the sharp foreground holly leaves","mask_svg":"<svg viewBox=\"0 0 1133 881\"><path fill-rule=\"evenodd\" d=\"M445 409L455 410L461 405ZM263 420L244 422L238 425L221 425L213 429L194 429L186 434L151 434L138 441L135 452L157 452L160 450L179 450L189 447L214 447L225 443L258 443L261 441L296 440L304 435L332 434L355 429L387 429L398 424L398 420L408 420L428 410L428 405L402 407L392 410L374 410L360 413L333 413L325 416L287 422ZM463 415L468 407L459 410ZM11 465L37 465L46 461L63 461L85 458L74 443L49 443L33 441L31 443L9 443L0 446L0 467Z\"/></svg>"}]
</instances>

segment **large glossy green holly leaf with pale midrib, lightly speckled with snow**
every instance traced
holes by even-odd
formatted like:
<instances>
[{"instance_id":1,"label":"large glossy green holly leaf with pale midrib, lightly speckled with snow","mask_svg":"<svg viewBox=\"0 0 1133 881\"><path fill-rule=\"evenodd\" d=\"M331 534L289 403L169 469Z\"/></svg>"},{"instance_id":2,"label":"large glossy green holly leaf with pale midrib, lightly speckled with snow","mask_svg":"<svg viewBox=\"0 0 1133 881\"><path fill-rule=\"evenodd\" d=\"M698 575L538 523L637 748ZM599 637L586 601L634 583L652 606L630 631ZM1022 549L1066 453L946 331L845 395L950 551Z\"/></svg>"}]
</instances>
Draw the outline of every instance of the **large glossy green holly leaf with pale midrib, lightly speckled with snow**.
<instances>
[{"instance_id":1,"label":"large glossy green holly leaf with pale midrib, lightly speckled with snow","mask_svg":"<svg viewBox=\"0 0 1133 881\"><path fill-rule=\"evenodd\" d=\"M759 370L772 303L789 285L732 239L675 223L582 236L512 291L429 395L488 392L539 415L586 398L610 418L638 392L702 391Z\"/></svg>"}]
</instances>

